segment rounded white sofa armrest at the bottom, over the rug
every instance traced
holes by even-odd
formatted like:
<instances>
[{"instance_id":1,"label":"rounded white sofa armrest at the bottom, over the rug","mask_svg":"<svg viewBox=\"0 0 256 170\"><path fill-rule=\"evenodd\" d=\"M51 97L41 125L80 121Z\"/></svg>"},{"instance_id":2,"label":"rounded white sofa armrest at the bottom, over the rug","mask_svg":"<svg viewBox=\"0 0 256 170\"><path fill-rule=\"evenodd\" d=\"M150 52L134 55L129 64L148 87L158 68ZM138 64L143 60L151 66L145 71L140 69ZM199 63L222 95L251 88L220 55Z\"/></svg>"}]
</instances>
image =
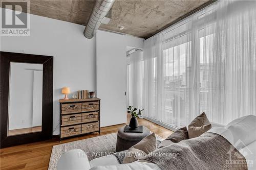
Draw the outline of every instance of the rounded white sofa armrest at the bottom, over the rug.
<instances>
[{"instance_id":1,"label":"rounded white sofa armrest at the bottom, over the rug","mask_svg":"<svg viewBox=\"0 0 256 170\"><path fill-rule=\"evenodd\" d=\"M58 170L89 170L91 168L86 153L75 149L61 155L58 161Z\"/></svg>"}]
</instances>

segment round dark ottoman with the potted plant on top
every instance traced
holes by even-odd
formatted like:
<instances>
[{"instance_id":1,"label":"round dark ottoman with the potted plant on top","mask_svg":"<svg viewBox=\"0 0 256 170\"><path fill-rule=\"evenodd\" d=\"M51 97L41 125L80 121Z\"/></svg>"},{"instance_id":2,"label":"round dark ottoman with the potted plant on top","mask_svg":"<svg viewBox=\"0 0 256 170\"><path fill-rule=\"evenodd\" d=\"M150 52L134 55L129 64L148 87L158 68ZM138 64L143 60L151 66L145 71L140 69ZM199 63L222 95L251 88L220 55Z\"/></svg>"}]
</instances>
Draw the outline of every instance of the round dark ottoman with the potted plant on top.
<instances>
[{"instance_id":1,"label":"round dark ottoman with the potted plant on top","mask_svg":"<svg viewBox=\"0 0 256 170\"><path fill-rule=\"evenodd\" d=\"M130 149L147 135L150 135L150 130L143 126L143 133L123 132L124 127L121 127L117 132L116 152Z\"/></svg>"}]
</instances>

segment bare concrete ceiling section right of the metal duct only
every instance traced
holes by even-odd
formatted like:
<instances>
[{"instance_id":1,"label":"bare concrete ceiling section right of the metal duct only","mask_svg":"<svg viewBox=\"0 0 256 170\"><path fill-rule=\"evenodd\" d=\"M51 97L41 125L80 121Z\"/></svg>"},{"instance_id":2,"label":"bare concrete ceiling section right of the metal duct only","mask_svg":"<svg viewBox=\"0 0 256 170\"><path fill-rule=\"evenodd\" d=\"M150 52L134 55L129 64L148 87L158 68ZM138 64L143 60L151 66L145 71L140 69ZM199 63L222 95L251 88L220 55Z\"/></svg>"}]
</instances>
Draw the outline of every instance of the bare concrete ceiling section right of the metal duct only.
<instances>
[{"instance_id":1,"label":"bare concrete ceiling section right of the metal duct only","mask_svg":"<svg viewBox=\"0 0 256 170\"><path fill-rule=\"evenodd\" d=\"M116 1L112 19L100 28L148 38L179 17L208 2L204 1ZM118 26L123 30L118 30Z\"/></svg>"}]
</instances>

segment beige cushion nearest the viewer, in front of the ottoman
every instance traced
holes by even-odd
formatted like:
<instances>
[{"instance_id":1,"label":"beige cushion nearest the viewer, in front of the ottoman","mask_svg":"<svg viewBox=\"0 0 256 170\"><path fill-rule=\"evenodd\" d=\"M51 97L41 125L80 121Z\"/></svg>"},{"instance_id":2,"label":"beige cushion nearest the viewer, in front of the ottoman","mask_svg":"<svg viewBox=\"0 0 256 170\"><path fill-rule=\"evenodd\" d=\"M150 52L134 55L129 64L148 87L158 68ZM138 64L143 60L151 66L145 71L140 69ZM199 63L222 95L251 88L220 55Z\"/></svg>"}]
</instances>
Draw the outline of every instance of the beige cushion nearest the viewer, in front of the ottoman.
<instances>
[{"instance_id":1,"label":"beige cushion nearest the viewer, in front of the ottoman","mask_svg":"<svg viewBox=\"0 0 256 170\"><path fill-rule=\"evenodd\" d=\"M157 149L157 139L155 133L152 133L142 139L139 143L133 145L126 153L123 163L131 163L137 161L147 154Z\"/></svg>"}]
</instances>

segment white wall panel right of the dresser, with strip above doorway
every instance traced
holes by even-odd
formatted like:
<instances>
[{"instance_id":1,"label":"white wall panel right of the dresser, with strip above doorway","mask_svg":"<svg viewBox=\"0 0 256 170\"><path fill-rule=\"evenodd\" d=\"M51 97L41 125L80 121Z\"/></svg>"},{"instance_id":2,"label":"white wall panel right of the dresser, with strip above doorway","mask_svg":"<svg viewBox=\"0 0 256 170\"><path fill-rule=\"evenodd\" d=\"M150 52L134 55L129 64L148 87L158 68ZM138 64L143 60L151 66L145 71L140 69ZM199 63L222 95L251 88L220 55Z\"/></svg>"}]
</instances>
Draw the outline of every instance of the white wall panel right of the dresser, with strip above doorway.
<instances>
[{"instance_id":1,"label":"white wall panel right of the dresser, with strip above doorway","mask_svg":"<svg viewBox=\"0 0 256 170\"><path fill-rule=\"evenodd\" d=\"M126 47L143 48L143 39L97 31L96 44L101 126L126 123Z\"/></svg>"}]
</instances>

